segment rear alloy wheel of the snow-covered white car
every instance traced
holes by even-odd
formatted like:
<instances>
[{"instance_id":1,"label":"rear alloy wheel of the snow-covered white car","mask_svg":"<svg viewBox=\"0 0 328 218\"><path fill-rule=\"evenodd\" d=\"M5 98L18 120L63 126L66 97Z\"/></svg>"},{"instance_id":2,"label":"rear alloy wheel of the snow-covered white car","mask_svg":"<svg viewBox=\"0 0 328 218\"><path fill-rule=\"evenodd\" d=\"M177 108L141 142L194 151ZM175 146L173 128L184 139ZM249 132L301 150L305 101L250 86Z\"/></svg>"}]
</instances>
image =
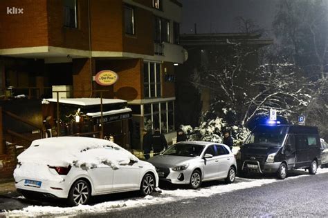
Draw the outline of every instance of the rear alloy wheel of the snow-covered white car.
<instances>
[{"instance_id":1,"label":"rear alloy wheel of the snow-covered white car","mask_svg":"<svg viewBox=\"0 0 328 218\"><path fill-rule=\"evenodd\" d=\"M73 206L78 206L79 204L86 204L90 198L90 186L84 180L75 181L70 192L69 201Z\"/></svg>"}]
</instances>

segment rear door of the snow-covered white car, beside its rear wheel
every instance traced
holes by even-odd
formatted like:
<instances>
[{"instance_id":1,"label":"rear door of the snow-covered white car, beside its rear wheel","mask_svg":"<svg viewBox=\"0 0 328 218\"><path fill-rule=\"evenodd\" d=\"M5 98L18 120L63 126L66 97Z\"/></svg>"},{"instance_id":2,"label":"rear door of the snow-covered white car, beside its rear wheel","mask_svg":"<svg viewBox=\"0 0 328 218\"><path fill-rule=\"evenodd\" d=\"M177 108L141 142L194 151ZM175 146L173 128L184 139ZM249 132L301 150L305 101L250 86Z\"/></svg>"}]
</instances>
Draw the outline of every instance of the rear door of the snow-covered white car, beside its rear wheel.
<instances>
[{"instance_id":1,"label":"rear door of the snow-covered white car, beside its rear wheel","mask_svg":"<svg viewBox=\"0 0 328 218\"><path fill-rule=\"evenodd\" d=\"M106 164L99 164L88 170L93 181L95 192L110 192L113 189L113 168Z\"/></svg>"}]
</instances>

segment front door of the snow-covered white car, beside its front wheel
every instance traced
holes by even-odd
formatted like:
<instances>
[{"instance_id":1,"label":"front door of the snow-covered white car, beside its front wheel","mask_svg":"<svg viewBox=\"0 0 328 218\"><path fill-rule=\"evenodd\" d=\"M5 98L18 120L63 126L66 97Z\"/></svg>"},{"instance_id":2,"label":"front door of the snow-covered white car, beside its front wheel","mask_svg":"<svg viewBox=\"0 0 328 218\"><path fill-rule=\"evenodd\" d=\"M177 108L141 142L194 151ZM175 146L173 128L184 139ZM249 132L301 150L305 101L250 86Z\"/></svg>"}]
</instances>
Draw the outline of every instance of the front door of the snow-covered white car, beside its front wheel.
<instances>
[{"instance_id":1,"label":"front door of the snow-covered white car, beside its front wheel","mask_svg":"<svg viewBox=\"0 0 328 218\"><path fill-rule=\"evenodd\" d=\"M142 166L136 162L120 165L120 168L113 170L113 190L139 188L141 170Z\"/></svg>"}]
</instances>

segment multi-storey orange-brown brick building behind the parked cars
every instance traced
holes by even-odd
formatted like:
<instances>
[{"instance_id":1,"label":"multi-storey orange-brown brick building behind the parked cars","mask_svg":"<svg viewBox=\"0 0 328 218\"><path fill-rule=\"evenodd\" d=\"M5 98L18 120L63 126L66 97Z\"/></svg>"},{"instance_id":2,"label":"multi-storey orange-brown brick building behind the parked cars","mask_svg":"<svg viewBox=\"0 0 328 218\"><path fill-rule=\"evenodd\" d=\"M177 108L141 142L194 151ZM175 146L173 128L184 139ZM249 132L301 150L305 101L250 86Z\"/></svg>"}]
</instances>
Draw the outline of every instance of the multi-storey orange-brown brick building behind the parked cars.
<instances>
[{"instance_id":1,"label":"multi-storey orange-brown brick building behind the parked cars","mask_svg":"<svg viewBox=\"0 0 328 218\"><path fill-rule=\"evenodd\" d=\"M66 86L69 97L86 98L103 90L132 109L131 148L141 148L143 128L161 128L172 141L174 66L188 56L179 46L181 7L177 0L0 1L0 95L49 98L53 86ZM101 70L118 81L98 85Z\"/></svg>"}]
</instances>

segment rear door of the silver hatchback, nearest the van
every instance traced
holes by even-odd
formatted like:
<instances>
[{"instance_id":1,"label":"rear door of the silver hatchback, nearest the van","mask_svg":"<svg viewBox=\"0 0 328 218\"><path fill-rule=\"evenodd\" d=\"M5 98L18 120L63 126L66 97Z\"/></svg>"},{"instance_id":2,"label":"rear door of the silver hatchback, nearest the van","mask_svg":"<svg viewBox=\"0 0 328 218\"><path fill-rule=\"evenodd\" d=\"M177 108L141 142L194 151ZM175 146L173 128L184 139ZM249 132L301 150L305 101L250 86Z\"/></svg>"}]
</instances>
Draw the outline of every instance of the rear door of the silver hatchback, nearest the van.
<instances>
[{"instance_id":1,"label":"rear door of the silver hatchback, nearest the van","mask_svg":"<svg viewBox=\"0 0 328 218\"><path fill-rule=\"evenodd\" d=\"M215 147L217 148L217 157L219 159L219 177L226 177L230 168L231 159L234 157L230 155L224 146L215 145Z\"/></svg>"}]
</instances>

